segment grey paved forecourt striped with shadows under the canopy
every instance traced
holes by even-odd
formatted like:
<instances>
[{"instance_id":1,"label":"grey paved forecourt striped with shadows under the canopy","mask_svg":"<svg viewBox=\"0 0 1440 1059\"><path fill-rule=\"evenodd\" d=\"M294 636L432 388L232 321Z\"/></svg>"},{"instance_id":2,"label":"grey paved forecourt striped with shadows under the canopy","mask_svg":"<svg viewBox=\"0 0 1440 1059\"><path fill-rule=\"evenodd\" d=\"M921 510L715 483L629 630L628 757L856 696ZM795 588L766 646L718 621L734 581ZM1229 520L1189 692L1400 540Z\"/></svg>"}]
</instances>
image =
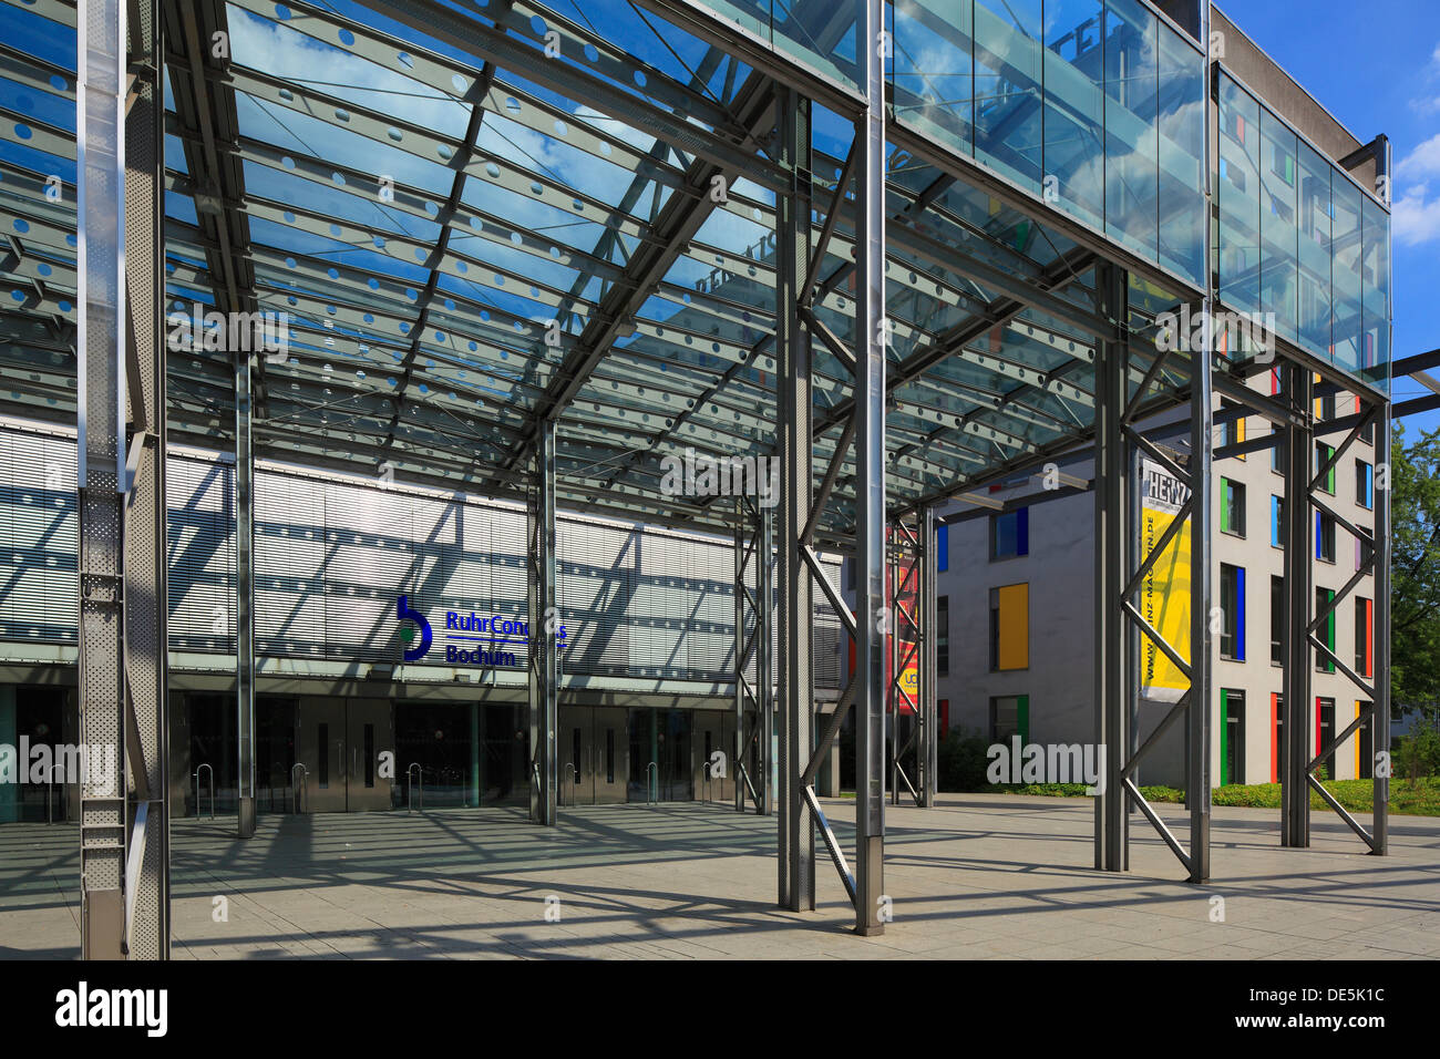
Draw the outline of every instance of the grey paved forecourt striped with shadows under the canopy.
<instances>
[{"instance_id":1,"label":"grey paved forecourt striped with shadows under the canopy","mask_svg":"<svg viewBox=\"0 0 1440 1059\"><path fill-rule=\"evenodd\" d=\"M848 844L852 803L827 804ZM1090 869L1087 800L943 795L887 810L884 937L850 932L819 850L818 908L775 908L775 820L720 807L566 808L225 820L173 837L174 955L462 958L1424 958L1440 955L1440 821L1391 820L1388 857L1316 813L1309 850L1274 811L1217 808L1215 880L1142 818L1130 873ZM1182 816L1165 813L1184 834ZM1365 823L1362 820L1362 823ZM0 955L78 952L76 831L0 827ZM546 898L559 899L559 922ZM1211 922L1211 896L1224 922ZM215 922L215 896L229 921Z\"/></svg>"}]
</instances>

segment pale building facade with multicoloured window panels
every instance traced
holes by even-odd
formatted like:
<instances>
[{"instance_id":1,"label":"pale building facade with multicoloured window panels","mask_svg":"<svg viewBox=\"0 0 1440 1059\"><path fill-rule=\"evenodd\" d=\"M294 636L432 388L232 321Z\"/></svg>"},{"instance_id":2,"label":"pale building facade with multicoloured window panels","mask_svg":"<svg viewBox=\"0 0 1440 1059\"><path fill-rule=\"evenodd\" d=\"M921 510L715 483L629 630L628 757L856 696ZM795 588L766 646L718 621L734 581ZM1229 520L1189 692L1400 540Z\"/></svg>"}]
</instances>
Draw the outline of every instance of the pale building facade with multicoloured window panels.
<instances>
[{"instance_id":1,"label":"pale building facade with multicoloured window panels","mask_svg":"<svg viewBox=\"0 0 1440 1059\"><path fill-rule=\"evenodd\" d=\"M1272 392L1276 380L1251 385ZM1333 419L1351 408L1345 398L1316 402L1316 416ZM1354 401L1354 398L1349 398ZM1215 411L1223 411L1217 401ZM1215 429L1217 450L1257 439L1270 431L1260 416L1237 418ZM1333 441L1331 438L1329 441ZM1164 442L1162 442L1164 444ZM1181 447L1166 445L1184 463ZM1316 442L1313 473L1333 448ZM1211 778L1214 785L1277 782L1286 743L1282 725L1282 578L1284 573L1284 478L1279 447L1215 463L1212 490L1214 581L1211 598L1212 673L1210 703ZM1384 486L1384 454L1374 431L1344 454L1320 486L1333 513L1364 530L1374 517L1377 467ZM936 612L939 628L940 715L950 728L979 733L991 743L1020 735L1035 743L1094 741L1094 496L1087 460L1056 464L992 487L991 506L955 504L942 516ZM1153 546L1168 520L1162 516L1138 545ZM1359 537L1316 511L1312 532L1315 614L1361 571ZM1175 599L1188 595L1185 572L1165 560L1158 576ZM1374 578L1359 576L1344 604L1319 625L1318 635L1354 671L1375 673ZM1313 651L1315 754L1359 716L1364 700L1333 660ZM1142 651L1142 658L1153 653ZM1142 680L1142 686L1146 682ZM1145 739L1174 699L1161 692L1139 700L1139 739ZM1395 726L1392 726L1392 732ZM1368 778L1374 751L1362 725L1325 762L1329 778ZM1184 733L1168 732L1142 767L1142 782L1182 785Z\"/></svg>"}]
</instances>

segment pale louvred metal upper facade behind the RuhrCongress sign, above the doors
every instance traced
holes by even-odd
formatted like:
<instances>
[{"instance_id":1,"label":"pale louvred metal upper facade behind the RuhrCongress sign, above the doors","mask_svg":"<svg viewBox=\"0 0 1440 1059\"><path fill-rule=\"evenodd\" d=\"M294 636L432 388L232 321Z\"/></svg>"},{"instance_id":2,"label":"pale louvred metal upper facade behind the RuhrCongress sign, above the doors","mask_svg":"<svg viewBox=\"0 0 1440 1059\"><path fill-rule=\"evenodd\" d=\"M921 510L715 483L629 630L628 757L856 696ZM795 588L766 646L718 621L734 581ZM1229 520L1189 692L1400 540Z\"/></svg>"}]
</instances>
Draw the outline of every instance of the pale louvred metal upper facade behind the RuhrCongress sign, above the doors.
<instances>
[{"instance_id":1,"label":"pale louvred metal upper facade behind the RuhrCongress sign, above the doors","mask_svg":"<svg viewBox=\"0 0 1440 1059\"><path fill-rule=\"evenodd\" d=\"M167 484L170 650L233 656L233 464L177 450ZM524 620L524 511L511 504L262 465L256 653L399 661L396 599L408 595L435 630L435 647L416 664L444 664L446 612ZM557 533L566 673L733 679L729 540L563 514ZM829 568L838 581L838 562ZM75 569L73 438L6 425L0 641L73 644ZM816 686L837 687L840 620L821 604L815 624ZM508 650L523 670L523 645Z\"/></svg>"}]
</instances>

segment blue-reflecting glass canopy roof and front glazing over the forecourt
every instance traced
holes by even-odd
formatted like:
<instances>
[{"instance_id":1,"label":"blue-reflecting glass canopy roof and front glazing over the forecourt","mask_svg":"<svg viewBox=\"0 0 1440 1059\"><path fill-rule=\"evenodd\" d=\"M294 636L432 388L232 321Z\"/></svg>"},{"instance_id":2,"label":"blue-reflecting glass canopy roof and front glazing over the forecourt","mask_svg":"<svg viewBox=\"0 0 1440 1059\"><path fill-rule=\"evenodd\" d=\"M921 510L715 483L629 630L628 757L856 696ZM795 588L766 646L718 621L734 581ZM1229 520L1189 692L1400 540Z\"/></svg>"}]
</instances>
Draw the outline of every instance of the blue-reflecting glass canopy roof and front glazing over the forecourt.
<instances>
[{"instance_id":1,"label":"blue-reflecting glass canopy roof and front glazing over the forecourt","mask_svg":"<svg viewBox=\"0 0 1440 1059\"><path fill-rule=\"evenodd\" d=\"M0 409L72 422L75 9L3 3ZM717 10L852 84L855 4ZM1116 333L1096 310L1103 256L1045 223L1047 207L1156 264L1132 275L1125 321L1140 385L1155 314L1201 272L1204 58L1129 0L900 0L893 16L894 121L1037 203L890 150L887 493L904 510L1093 425L1094 343ZM554 418L563 507L730 523L729 503L667 496L662 460L775 451L773 339L789 311L776 305L776 196L793 174L773 144L769 76L624 0L236 0L190 17L167 22L171 438L233 437L232 354L206 349L192 321L284 314L284 349L259 359L258 455L504 496L524 488L537 424ZM816 477L851 402L848 180L837 196L851 140L850 120L816 104L812 236L831 231L812 305L828 333L814 341ZM1332 202L1349 187L1344 174L1331 186ZM1338 212L1388 233L1371 205ZM1241 232L1231 213L1223 262ZM1261 259L1313 249L1280 245L1293 228L1253 229ZM1254 262L1233 261L1223 295L1248 308ZM1257 304L1292 297L1267 282ZM1344 290L1361 310L1384 294ZM1295 323L1300 341L1318 334L1309 323ZM1335 363L1364 369L1356 350ZM1146 399L1184 377L1178 357ZM822 539L850 530L852 475L847 458Z\"/></svg>"}]
</instances>

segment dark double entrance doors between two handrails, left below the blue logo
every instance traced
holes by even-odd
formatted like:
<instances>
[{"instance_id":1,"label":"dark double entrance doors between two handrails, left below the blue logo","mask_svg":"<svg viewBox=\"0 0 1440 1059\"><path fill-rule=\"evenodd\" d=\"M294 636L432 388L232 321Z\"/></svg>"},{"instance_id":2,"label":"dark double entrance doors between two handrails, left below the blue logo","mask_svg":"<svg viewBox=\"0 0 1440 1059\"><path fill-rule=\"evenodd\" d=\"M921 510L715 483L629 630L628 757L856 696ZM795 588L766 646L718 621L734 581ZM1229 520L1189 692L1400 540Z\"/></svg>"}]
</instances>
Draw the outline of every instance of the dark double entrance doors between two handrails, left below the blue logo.
<instances>
[{"instance_id":1,"label":"dark double entrance doors between two handrails, left below the blue logo","mask_svg":"<svg viewBox=\"0 0 1440 1059\"><path fill-rule=\"evenodd\" d=\"M301 699L295 733L305 767L304 811L390 808L392 781L380 777L380 754L395 751L389 702Z\"/></svg>"}]
</instances>

